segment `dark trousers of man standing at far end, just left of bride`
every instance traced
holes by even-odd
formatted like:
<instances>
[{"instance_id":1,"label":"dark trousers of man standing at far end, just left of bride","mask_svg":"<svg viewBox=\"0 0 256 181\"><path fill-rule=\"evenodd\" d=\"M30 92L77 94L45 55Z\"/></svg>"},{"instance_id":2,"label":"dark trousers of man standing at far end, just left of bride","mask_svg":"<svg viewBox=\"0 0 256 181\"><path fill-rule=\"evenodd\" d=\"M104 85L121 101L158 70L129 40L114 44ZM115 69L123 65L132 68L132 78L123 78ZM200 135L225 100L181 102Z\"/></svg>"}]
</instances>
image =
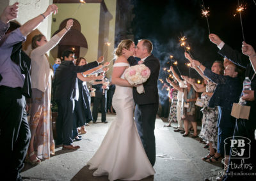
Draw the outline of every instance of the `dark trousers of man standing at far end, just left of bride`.
<instances>
[{"instance_id":1,"label":"dark trousers of man standing at far end, just left of bride","mask_svg":"<svg viewBox=\"0 0 256 181\"><path fill-rule=\"evenodd\" d=\"M98 108L100 105L100 112L101 112L101 122L106 121L106 98L102 96L101 98L95 97L93 99L93 109L92 109L92 117L93 122L96 122L98 119Z\"/></svg>"}]
</instances>

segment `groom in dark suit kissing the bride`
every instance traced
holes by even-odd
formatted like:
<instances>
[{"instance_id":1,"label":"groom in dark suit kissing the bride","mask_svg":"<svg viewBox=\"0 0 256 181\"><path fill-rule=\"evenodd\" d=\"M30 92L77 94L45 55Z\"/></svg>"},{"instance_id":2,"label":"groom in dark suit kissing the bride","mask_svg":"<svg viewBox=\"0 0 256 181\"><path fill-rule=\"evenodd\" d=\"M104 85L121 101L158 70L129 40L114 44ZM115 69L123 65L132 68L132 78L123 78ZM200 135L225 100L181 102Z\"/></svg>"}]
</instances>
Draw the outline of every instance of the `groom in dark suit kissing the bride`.
<instances>
[{"instance_id":1,"label":"groom in dark suit kissing the bride","mask_svg":"<svg viewBox=\"0 0 256 181\"><path fill-rule=\"evenodd\" d=\"M155 122L158 110L158 90L157 80L159 75L159 60L151 52L153 50L152 42L149 40L139 40L135 52L123 49L123 55L127 58L129 64L145 64L150 69L150 76L147 82L143 83L145 93L139 94L136 87L133 87L133 98L136 103L134 117L141 142L152 166L156 162L156 141L155 141ZM133 57L141 60L139 62Z\"/></svg>"}]
</instances>

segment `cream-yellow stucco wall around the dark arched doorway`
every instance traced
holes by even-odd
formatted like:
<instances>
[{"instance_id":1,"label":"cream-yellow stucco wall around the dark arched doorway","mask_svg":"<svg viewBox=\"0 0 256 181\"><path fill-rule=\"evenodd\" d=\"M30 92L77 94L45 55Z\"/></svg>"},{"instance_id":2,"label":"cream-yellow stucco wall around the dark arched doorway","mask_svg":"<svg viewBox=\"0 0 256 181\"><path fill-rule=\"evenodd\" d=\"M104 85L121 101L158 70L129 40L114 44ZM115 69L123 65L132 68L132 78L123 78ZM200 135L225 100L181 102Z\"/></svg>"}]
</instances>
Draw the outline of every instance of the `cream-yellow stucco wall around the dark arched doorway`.
<instances>
[{"instance_id":1,"label":"cream-yellow stucco wall around the dark arched doorway","mask_svg":"<svg viewBox=\"0 0 256 181\"><path fill-rule=\"evenodd\" d=\"M112 19L109 21L108 37L106 41L110 41L111 45L106 50L108 55L108 60L113 58L113 48L115 41L115 15L116 15L116 0L105 1L109 13L112 15ZM86 3L86 4L56 4L59 8L57 15L53 15L56 18L56 22L52 21L51 34L54 34L61 24L61 22L67 18L75 18L81 24L81 33L86 38L88 43L88 50L83 51L85 53L84 57L88 62L97 60L99 57L99 27L100 27L100 3ZM76 12L76 13L75 13ZM105 50L101 50L101 52ZM50 55L50 61L54 62L56 58L57 51L52 50ZM81 52L81 55L82 52Z\"/></svg>"}]
</instances>

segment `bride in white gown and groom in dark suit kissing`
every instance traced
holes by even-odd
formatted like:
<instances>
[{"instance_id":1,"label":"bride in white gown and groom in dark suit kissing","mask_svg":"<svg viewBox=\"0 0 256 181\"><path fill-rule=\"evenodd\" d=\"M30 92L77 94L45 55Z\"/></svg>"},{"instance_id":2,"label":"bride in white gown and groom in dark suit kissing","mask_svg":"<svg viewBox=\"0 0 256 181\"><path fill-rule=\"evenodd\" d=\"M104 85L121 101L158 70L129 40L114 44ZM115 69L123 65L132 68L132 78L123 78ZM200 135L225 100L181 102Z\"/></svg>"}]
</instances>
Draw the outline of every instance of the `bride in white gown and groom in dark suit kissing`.
<instances>
[{"instance_id":1,"label":"bride in white gown and groom in dark suit kissing","mask_svg":"<svg viewBox=\"0 0 256 181\"><path fill-rule=\"evenodd\" d=\"M160 64L151 54L152 49L149 40L138 41L136 47L132 40L122 40L115 50L117 59L113 66L112 83L116 89L112 104L116 118L99 149L87 163L90 170L95 170L93 176L108 175L109 180L141 180L155 173L154 129ZM141 60L136 61L134 56ZM141 94L124 78L125 69L138 63L150 69L150 76L143 83L145 92Z\"/></svg>"}]
</instances>

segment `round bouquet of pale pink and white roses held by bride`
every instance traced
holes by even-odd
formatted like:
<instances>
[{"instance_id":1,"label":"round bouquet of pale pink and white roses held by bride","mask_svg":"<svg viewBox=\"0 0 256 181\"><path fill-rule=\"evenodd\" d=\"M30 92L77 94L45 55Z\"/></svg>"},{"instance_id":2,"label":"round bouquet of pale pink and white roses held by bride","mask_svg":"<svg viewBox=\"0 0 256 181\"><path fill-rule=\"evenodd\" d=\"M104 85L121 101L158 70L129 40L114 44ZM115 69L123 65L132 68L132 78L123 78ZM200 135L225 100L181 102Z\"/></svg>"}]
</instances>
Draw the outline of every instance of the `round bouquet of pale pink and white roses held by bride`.
<instances>
[{"instance_id":1,"label":"round bouquet of pale pink and white roses held by bride","mask_svg":"<svg viewBox=\"0 0 256 181\"><path fill-rule=\"evenodd\" d=\"M125 70L124 77L131 85L139 85L136 87L139 94L145 92L142 83L148 80L150 69L145 64L131 66ZM141 85L140 85L141 84Z\"/></svg>"}]
</instances>

